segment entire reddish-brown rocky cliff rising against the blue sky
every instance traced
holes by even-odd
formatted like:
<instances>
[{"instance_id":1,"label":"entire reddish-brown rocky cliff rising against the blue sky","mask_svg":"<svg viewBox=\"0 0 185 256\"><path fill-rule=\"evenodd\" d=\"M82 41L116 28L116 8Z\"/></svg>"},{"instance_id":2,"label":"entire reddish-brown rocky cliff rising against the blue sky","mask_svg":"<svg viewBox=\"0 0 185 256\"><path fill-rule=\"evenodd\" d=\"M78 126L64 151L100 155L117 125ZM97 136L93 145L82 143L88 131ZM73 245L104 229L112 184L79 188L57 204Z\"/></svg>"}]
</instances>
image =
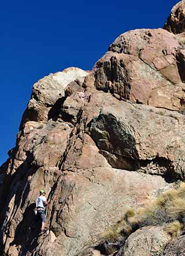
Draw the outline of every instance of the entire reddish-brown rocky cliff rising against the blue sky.
<instances>
[{"instance_id":1,"label":"entire reddish-brown rocky cliff rising against the blue sky","mask_svg":"<svg viewBox=\"0 0 185 256\"><path fill-rule=\"evenodd\" d=\"M97 244L110 225L184 181L184 5L164 29L120 35L92 71L35 83L0 170L2 255L105 255ZM41 187L43 235L33 211ZM184 244L148 225L114 255L184 255Z\"/></svg>"}]
</instances>

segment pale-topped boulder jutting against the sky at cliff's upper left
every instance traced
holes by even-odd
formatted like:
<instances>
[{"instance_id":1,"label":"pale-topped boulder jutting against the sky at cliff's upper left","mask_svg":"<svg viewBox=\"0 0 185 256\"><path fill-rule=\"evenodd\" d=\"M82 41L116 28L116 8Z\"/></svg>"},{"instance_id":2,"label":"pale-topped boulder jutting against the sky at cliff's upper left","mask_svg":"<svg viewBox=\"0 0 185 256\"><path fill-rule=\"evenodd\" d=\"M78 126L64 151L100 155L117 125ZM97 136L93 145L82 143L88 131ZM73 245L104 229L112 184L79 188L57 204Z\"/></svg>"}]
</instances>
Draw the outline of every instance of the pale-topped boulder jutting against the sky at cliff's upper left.
<instances>
[{"instance_id":1,"label":"pale-topped boulder jutting against the sky at cliff's upper left","mask_svg":"<svg viewBox=\"0 0 185 256\"><path fill-rule=\"evenodd\" d=\"M47 122L51 108L65 96L66 86L77 78L84 80L88 74L87 71L72 67L40 79L33 87L32 97L23 115L21 126L28 120Z\"/></svg>"}]
</instances>

